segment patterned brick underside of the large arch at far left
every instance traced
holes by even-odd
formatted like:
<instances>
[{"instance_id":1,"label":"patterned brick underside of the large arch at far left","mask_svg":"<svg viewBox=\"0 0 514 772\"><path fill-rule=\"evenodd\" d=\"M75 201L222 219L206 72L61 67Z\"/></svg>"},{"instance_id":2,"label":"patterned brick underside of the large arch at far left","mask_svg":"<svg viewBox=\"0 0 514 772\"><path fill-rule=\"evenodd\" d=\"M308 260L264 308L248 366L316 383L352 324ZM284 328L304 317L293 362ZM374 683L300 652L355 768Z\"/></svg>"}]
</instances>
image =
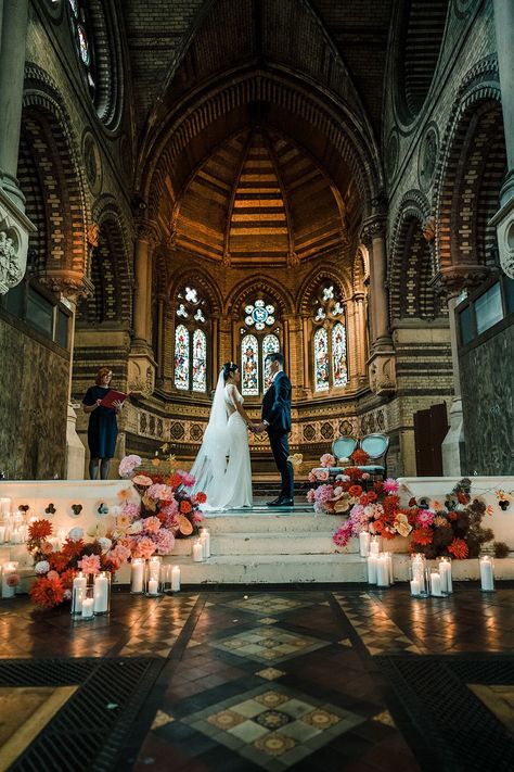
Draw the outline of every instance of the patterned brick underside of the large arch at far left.
<instances>
[{"instance_id":1,"label":"patterned brick underside of the large arch at far left","mask_svg":"<svg viewBox=\"0 0 514 772\"><path fill-rule=\"evenodd\" d=\"M63 99L35 65L26 67L22 129L44 197L48 249L40 278L78 287L88 269L91 223L85 170Z\"/></svg>"}]
</instances>

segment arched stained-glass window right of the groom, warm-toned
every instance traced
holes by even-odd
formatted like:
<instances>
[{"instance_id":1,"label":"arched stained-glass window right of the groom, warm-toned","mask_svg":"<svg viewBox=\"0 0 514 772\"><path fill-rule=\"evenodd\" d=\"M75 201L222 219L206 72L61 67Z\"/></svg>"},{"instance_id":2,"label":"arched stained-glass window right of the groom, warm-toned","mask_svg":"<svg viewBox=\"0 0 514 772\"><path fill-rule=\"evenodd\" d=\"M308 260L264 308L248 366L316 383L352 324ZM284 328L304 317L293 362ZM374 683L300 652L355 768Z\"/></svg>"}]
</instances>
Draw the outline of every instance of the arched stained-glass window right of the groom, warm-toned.
<instances>
[{"instance_id":1,"label":"arched stained-glass window right of the groom, warm-toned","mask_svg":"<svg viewBox=\"0 0 514 772\"><path fill-rule=\"evenodd\" d=\"M345 307L333 284L324 284L312 305L314 392L344 388L348 382Z\"/></svg>"}]
</instances>

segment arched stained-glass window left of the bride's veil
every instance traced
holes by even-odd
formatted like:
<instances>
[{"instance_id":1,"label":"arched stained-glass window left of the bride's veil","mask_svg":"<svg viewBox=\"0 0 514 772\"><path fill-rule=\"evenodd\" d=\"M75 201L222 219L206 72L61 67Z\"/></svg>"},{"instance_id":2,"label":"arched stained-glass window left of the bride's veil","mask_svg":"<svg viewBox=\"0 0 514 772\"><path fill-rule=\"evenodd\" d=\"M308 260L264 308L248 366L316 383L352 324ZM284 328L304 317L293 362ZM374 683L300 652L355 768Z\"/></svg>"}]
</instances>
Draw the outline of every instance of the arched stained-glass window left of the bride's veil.
<instances>
[{"instance_id":1,"label":"arched stained-glass window left of the bride's veil","mask_svg":"<svg viewBox=\"0 0 514 772\"><path fill-rule=\"evenodd\" d=\"M175 388L205 394L208 369L206 305L193 287L185 287L177 300Z\"/></svg>"}]
</instances>

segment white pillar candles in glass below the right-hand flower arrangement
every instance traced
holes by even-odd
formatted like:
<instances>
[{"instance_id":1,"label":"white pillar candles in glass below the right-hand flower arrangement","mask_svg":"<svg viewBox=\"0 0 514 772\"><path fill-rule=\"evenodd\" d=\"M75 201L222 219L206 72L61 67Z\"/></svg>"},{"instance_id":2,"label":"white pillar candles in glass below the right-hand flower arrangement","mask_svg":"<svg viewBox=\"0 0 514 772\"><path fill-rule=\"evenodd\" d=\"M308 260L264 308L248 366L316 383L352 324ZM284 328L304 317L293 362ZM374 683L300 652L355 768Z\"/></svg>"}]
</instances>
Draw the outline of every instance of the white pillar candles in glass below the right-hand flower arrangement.
<instances>
[{"instance_id":1,"label":"white pillar candles in glass below the right-hand flower arrangement","mask_svg":"<svg viewBox=\"0 0 514 772\"><path fill-rule=\"evenodd\" d=\"M381 537L372 536L367 531L359 534L359 553L367 558L368 583L378 587L394 584L391 553L381 552ZM478 559L480 568L480 589L483 592L494 590L494 565L489 555ZM426 557L420 553L412 555L410 565L410 590L412 597L445 597L453 592L451 560L441 557L437 568L427 568Z\"/></svg>"}]
</instances>

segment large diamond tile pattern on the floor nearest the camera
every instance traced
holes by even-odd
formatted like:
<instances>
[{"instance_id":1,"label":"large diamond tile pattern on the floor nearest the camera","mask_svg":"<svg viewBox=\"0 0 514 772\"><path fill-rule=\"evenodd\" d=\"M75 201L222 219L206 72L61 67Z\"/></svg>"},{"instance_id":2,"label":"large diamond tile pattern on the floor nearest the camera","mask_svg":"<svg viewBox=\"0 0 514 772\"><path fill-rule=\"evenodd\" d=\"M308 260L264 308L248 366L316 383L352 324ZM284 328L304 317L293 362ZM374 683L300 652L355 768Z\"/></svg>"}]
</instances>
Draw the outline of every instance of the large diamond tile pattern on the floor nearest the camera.
<instances>
[{"instance_id":1,"label":"large diamond tile pattern on the floor nearest the camera","mask_svg":"<svg viewBox=\"0 0 514 772\"><path fill-rule=\"evenodd\" d=\"M270 772L287 769L364 721L322 699L268 685L182 719Z\"/></svg>"}]
</instances>

